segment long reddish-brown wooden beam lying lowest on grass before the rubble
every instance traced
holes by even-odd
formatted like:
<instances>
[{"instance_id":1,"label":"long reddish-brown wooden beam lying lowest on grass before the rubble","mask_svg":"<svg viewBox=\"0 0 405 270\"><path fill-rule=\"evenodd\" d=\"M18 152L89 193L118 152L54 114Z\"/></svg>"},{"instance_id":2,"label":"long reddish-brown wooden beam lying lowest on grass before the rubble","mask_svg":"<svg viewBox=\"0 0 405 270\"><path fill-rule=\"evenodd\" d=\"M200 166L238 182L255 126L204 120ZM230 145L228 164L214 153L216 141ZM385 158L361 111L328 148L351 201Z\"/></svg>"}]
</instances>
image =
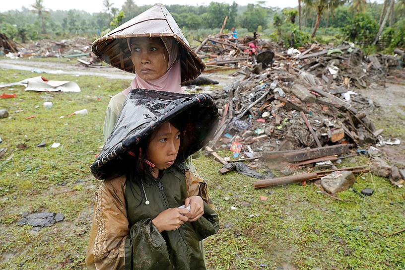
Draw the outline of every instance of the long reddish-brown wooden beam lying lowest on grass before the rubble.
<instances>
[{"instance_id":1,"label":"long reddish-brown wooden beam lying lowest on grass before the rubble","mask_svg":"<svg viewBox=\"0 0 405 270\"><path fill-rule=\"evenodd\" d=\"M320 172L314 172L314 173L303 173L303 174L298 174L298 175L284 176L284 177L278 177L278 178L272 178L272 179L263 179L260 181L256 181L254 184L254 187L255 187L255 189L259 189L259 188L266 188L266 187L272 187L272 186L278 186L278 185L285 185L285 184L291 184L291 183L316 180L316 179L320 179L335 171L351 171L353 173L364 173L364 172L369 172L370 169L367 166L355 166L355 167L338 168L338 169L334 169L334 170L320 171Z\"/></svg>"}]
</instances>

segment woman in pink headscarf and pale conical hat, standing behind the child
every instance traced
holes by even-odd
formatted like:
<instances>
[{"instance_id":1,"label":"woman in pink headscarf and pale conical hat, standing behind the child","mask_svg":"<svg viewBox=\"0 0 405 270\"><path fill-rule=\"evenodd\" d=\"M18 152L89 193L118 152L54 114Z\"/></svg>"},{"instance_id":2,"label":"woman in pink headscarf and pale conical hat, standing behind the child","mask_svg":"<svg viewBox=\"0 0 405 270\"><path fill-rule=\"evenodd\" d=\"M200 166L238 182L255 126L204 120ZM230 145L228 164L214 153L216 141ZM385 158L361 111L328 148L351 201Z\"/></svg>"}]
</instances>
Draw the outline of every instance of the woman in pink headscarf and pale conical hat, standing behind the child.
<instances>
[{"instance_id":1,"label":"woman in pink headscarf and pale conical hat, standing behind the child","mask_svg":"<svg viewBox=\"0 0 405 270\"><path fill-rule=\"evenodd\" d=\"M205 69L205 64L162 4L95 40L92 51L107 64L135 73L131 85L115 95L107 107L104 140L111 135L131 89L184 93L181 82L197 78Z\"/></svg>"}]
</instances>

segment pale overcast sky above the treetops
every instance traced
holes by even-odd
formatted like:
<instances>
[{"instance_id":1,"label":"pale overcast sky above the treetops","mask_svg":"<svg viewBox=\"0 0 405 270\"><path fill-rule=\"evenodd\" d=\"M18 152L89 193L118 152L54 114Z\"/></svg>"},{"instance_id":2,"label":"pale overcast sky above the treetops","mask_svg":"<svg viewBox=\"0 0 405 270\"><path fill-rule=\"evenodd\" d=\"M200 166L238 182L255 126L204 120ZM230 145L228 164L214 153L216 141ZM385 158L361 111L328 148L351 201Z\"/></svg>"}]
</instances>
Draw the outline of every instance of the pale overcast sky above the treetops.
<instances>
[{"instance_id":1,"label":"pale overcast sky above the treetops","mask_svg":"<svg viewBox=\"0 0 405 270\"><path fill-rule=\"evenodd\" d=\"M200 5L207 5L212 0L199 0L198 3ZM226 2L232 3L234 0L217 0L216 2ZM377 2L383 2L384 0L377 0ZM10 9L21 9L22 6L30 8L31 4L33 4L35 0L1 0L0 4L0 12L7 11ZM125 0L111 0L114 3L114 7L121 8ZM156 3L159 1L157 0ZM160 1L163 4L190 4L192 1L190 0L169 0L169 1ZM235 0L240 5L246 5L248 3L256 3L257 1L254 0ZM298 5L298 0L267 0L266 6L277 6L280 8L284 7L295 7ZM153 3L151 0L135 0L137 5L144 5ZM44 6L46 8L50 8L52 10L57 9L82 9L92 12L99 12L103 10L103 0L44 0Z\"/></svg>"}]
</instances>

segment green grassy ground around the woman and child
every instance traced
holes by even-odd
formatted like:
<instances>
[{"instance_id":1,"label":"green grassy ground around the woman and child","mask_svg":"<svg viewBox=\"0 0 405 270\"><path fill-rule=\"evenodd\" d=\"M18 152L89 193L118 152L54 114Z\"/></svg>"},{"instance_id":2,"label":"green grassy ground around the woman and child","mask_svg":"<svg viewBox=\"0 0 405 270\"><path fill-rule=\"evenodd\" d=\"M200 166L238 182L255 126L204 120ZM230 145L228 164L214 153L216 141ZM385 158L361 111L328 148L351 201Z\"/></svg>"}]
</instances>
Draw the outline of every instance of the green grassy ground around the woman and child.
<instances>
[{"instance_id":1,"label":"green grassy ground around the woman and child","mask_svg":"<svg viewBox=\"0 0 405 270\"><path fill-rule=\"evenodd\" d=\"M0 83L31 76L31 72L0 69ZM0 148L7 148L0 159L0 269L84 268L100 184L89 166L103 144L109 96L129 83L46 76L76 81L82 92L1 89L1 93L15 92L17 98L0 99L0 109L11 116L0 119ZM45 101L52 101L54 107L45 110ZM88 115L67 117L84 108ZM31 115L35 118L25 119ZM37 147L43 140L47 146ZM61 146L51 148L53 142ZM209 184L221 218L219 233L205 241L209 268L277 269L289 263L299 269L405 269L405 233L388 236L405 228L405 193L387 179L359 176L353 188L370 187L375 194L362 198L350 189L338 194L344 201L340 202L312 184L254 190L255 179L232 172L222 176L217 173L220 165L207 157L195 164ZM260 196L269 199L260 201ZM65 220L39 232L17 225L23 212L39 211L61 212Z\"/></svg>"}]
</instances>

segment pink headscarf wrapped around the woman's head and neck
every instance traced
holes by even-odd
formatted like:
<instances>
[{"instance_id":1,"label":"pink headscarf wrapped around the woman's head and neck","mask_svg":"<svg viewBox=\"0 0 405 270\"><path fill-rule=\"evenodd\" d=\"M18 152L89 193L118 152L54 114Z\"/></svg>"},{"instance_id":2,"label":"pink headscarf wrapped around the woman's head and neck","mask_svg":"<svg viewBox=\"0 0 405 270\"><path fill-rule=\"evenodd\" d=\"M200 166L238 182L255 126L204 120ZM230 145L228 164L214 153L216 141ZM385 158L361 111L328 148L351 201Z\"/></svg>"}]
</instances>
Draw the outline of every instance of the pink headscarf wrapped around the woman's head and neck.
<instances>
[{"instance_id":1,"label":"pink headscarf wrapped around the woman's head and neck","mask_svg":"<svg viewBox=\"0 0 405 270\"><path fill-rule=\"evenodd\" d=\"M130 39L127 39L128 46L131 50ZM181 87L181 67L180 60L177 59L179 55L179 46L174 38L162 38L162 41L169 53L169 63L167 72L158 79L155 80L143 80L135 74L135 78L131 81L131 86L122 91L124 95L134 88L150 89L156 91L166 91L173 93L184 93L184 89Z\"/></svg>"}]
</instances>

